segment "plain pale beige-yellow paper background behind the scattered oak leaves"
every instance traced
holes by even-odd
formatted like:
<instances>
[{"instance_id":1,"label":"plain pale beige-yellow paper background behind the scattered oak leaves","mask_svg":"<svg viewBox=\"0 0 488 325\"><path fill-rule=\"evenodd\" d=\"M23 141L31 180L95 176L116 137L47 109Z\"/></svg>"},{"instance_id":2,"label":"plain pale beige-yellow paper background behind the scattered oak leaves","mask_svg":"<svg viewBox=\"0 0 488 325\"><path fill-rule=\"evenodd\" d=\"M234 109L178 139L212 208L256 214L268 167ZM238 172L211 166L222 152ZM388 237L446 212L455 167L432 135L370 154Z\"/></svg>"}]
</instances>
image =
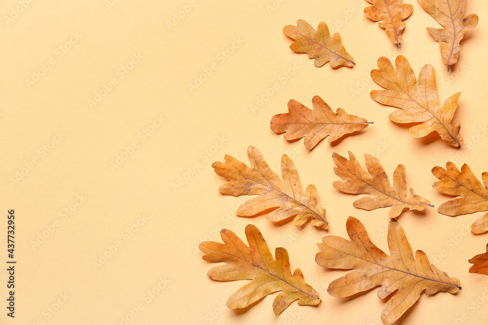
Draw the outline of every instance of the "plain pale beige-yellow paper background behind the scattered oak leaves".
<instances>
[{"instance_id":1,"label":"plain pale beige-yellow paper background behind the scattered oak leaves","mask_svg":"<svg viewBox=\"0 0 488 325\"><path fill-rule=\"evenodd\" d=\"M374 154L390 179L404 164L407 186L436 207L449 197L432 189L432 167L451 160L458 167L467 162L477 177L488 171L486 3L468 1L466 13L477 13L480 23L447 73L426 31L438 24L413 0L402 49L363 15L364 0L109 1L0 5L0 242L6 242L6 211L15 209L18 261L15 319L6 317L6 271L0 271L0 323L380 324L385 302L376 289L354 299L329 296L328 283L346 271L314 262L324 235L346 236L349 215L387 251L388 210L355 209L357 196L336 191L331 153L351 150L362 164L363 153ZM292 52L282 29L297 19L339 31L356 66L316 68ZM434 66L441 103L462 92L460 150L436 135L411 137L387 119L394 108L369 97L379 89L369 76L377 59L398 54L416 75L424 64ZM315 95L374 124L313 151L270 130L270 118L285 113L289 99L310 107ZM292 158L302 184L318 189L328 231L235 216L248 198L221 195L225 180L211 163L226 153L248 163L248 145L273 168L282 154ZM488 234L466 230L479 216L447 217L432 208L402 214L412 248L459 278L463 289L423 295L398 324L486 322L488 277L468 273L468 259L488 242ZM214 265L202 260L198 244L220 241L223 227L243 238L248 223L271 249L289 251L291 267L320 292L319 306L293 303L275 317L276 294L244 311L224 306L246 282L208 279ZM6 244L0 249L5 264Z\"/></svg>"}]
</instances>

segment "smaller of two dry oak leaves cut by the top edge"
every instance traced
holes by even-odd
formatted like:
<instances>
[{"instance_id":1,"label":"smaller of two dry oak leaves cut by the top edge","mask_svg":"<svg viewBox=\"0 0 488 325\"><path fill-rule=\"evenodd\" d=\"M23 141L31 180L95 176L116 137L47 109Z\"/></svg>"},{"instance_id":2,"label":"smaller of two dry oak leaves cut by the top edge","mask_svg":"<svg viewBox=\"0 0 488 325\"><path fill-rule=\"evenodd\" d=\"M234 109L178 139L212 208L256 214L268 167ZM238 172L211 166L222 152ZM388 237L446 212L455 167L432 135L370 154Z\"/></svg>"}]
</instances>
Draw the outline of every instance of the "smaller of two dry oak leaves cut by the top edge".
<instances>
[{"instance_id":1,"label":"smaller of two dry oak leaves cut by the top edge","mask_svg":"<svg viewBox=\"0 0 488 325\"><path fill-rule=\"evenodd\" d=\"M411 4L402 3L402 0L366 0L373 4L366 7L364 14L373 21L380 21L380 27L385 28L393 44L401 48L402 31L406 24L402 20L407 19L413 12Z\"/></svg>"}]
</instances>

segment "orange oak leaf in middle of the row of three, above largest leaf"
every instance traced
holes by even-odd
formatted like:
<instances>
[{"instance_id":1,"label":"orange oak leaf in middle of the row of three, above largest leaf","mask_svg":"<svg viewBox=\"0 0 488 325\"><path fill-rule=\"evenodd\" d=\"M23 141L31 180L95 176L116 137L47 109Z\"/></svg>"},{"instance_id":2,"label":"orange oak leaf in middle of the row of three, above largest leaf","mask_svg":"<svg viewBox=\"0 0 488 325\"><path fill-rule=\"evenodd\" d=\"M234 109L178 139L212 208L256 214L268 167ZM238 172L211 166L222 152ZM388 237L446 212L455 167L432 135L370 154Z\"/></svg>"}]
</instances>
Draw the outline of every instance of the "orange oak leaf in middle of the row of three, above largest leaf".
<instances>
[{"instance_id":1,"label":"orange oak leaf in middle of the row of three, above largest leaf","mask_svg":"<svg viewBox=\"0 0 488 325\"><path fill-rule=\"evenodd\" d=\"M375 156L365 153L367 172L350 151L349 160L338 153L332 153L332 159L337 167L334 172L342 181L335 181L332 185L339 191L349 194L367 194L354 202L354 207L364 210L391 207L388 212L390 218L395 218L408 210L422 211L426 206L433 207L429 201L413 193L407 193L405 166L398 165L393 172L393 186L390 185L386 172Z\"/></svg>"}]
</instances>

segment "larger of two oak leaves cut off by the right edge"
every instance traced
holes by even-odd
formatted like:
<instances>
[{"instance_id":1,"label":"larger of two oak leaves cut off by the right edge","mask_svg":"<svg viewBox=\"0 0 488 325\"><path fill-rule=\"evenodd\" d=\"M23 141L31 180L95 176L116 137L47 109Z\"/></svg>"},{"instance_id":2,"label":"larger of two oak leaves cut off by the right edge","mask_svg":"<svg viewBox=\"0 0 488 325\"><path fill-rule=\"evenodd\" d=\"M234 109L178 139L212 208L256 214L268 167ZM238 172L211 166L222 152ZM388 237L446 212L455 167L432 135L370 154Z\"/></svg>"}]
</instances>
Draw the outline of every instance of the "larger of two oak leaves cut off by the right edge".
<instances>
[{"instance_id":1,"label":"larger of two oak leaves cut off by the right edge","mask_svg":"<svg viewBox=\"0 0 488 325\"><path fill-rule=\"evenodd\" d=\"M483 184L474 176L467 164L461 172L452 162L447 162L446 169L436 166L432 173L439 178L432 187L444 194L462 196L449 200L439 206L437 211L444 215L456 216L479 211L488 211L488 172L481 174ZM471 225L476 234L488 231L488 213L478 218Z\"/></svg>"}]
</instances>

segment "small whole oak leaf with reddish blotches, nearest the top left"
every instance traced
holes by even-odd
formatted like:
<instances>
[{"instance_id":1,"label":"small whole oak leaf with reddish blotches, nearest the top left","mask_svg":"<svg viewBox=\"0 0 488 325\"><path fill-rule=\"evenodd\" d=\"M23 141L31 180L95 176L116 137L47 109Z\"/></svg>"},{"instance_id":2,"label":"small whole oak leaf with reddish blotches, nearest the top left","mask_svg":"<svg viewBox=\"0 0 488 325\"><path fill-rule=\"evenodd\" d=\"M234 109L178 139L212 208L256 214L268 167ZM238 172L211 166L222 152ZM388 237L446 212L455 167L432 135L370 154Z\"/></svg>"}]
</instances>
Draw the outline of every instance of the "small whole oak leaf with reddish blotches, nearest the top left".
<instances>
[{"instance_id":1,"label":"small whole oak leaf with reddish blotches, nearest the top left","mask_svg":"<svg viewBox=\"0 0 488 325\"><path fill-rule=\"evenodd\" d=\"M356 64L353 62L354 58L342 46L339 33L330 37L325 22L321 22L315 30L305 20L299 19L296 26L285 26L283 33L295 40L290 45L290 49L297 53L307 53L309 58L315 58L314 65L316 67L321 67L328 61L330 61L332 68L337 66L352 67Z\"/></svg>"}]
</instances>

